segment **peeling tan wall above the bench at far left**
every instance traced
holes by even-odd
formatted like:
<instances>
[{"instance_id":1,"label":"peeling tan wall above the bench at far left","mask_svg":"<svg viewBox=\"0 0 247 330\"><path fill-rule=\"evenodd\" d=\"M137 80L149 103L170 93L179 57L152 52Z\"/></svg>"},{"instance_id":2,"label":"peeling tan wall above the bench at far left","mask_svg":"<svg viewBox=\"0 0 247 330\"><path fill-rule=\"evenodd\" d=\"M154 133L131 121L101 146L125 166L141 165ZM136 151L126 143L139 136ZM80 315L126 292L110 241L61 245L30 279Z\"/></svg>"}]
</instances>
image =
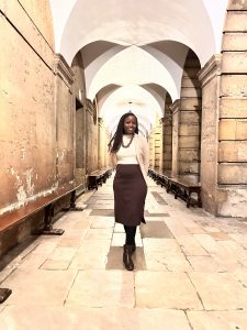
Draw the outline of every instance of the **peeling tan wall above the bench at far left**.
<instances>
[{"instance_id":1,"label":"peeling tan wall above the bench at far left","mask_svg":"<svg viewBox=\"0 0 247 330\"><path fill-rule=\"evenodd\" d=\"M0 2L1 213L56 185L53 31L42 34L37 15L52 20L48 1L32 20L19 1Z\"/></svg>"}]
</instances>

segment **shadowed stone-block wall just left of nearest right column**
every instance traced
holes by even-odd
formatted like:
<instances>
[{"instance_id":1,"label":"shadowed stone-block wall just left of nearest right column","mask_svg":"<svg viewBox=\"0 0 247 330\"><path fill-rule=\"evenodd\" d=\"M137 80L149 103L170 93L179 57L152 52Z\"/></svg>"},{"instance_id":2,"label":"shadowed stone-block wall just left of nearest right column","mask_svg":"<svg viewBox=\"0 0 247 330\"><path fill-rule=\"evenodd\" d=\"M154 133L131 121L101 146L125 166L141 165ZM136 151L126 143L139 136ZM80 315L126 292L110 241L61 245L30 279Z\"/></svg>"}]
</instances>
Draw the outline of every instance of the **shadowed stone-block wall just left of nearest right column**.
<instances>
[{"instance_id":1,"label":"shadowed stone-block wall just left of nearest right column","mask_svg":"<svg viewBox=\"0 0 247 330\"><path fill-rule=\"evenodd\" d=\"M179 113L179 175L200 176L201 86L198 79L200 63L188 52L184 63Z\"/></svg>"}]
</instances>

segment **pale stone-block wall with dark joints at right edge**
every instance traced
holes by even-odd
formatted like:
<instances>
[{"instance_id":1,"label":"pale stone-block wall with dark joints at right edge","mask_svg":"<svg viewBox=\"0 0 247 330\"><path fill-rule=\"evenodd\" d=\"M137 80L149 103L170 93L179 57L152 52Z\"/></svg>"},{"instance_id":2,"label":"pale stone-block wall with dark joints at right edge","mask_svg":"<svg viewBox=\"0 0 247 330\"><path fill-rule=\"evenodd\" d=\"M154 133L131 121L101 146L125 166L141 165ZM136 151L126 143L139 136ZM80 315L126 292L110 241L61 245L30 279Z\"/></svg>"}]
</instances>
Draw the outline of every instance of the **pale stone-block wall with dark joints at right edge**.
<instances>
[{"instance_id":1,"label":"pale stone-block wall with dark joints at right edge","mask_svg":"<svg viewBox=\"0 0 247 330\"><path fill-rule=\"evenodd\" d=\"M247 1L229 1L222 52L218 213L247 216Z\"/></svg>"}]
</instances>

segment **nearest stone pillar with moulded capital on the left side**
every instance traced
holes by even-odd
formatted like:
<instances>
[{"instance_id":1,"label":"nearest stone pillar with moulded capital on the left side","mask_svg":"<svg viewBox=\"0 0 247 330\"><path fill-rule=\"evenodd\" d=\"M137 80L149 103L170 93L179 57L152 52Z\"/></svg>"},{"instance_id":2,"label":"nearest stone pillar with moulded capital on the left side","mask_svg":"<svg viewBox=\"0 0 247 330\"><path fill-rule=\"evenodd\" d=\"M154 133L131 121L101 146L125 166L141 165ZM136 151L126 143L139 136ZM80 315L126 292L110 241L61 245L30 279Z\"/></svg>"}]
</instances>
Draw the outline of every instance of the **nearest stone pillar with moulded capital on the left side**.
<instances>
[{"instance_id":1,"label":"nearest stone pillar with moulded capital on the left side","mask_svg":"<svg viewBox=\"0 0 247 330\"><path fill-rule=\"evenodd\" d=\"M57 180L61 186L75 178L75 100L72 98L74 73L59 54L55 55L55 112L57 141Z\"/></svg>"}]
</instances>

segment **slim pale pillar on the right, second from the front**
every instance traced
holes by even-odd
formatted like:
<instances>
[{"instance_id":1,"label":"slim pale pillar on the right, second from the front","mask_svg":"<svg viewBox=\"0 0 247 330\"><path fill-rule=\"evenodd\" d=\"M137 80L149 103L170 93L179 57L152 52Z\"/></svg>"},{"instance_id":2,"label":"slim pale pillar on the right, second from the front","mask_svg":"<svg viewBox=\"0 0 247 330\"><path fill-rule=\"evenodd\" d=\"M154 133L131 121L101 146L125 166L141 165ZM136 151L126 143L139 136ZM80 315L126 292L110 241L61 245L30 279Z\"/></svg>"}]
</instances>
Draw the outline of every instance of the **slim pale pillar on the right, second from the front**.
<instances>
[{"instance_id":1,"label":"slim pale pillar on the right, second from the front","mask_svg":"<svg viewBox=\"0 0 247 330\"><path fill-rule=\"evenodd\" d=\"M176 100L170 107L172 113L172 157L171 157L171 176L179 174L179 111L180 100Z\"/></svg>"}]
</instances>

